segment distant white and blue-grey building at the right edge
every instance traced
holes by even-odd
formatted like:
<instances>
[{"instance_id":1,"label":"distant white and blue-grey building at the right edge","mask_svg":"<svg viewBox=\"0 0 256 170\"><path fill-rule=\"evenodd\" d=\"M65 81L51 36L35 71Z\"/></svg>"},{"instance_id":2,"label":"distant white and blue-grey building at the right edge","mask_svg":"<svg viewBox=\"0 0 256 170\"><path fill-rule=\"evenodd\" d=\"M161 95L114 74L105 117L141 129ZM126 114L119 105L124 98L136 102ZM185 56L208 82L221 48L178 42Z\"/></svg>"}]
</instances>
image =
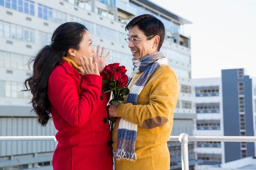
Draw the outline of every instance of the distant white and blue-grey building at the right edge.
<instances>
[{"instance_id":1,"label":"distant white and blue-grey building at the right edge","mask_svg":"<svg viewBox=\"0 0 256 170\"><path fill-rule=\"evenodd\" d=\"M193 79L197 136L254 136L255 80L244 69L221 71L221 78ZM251 142L197 142L198 170L255 155Z\"/></svg>"}]
</instances>

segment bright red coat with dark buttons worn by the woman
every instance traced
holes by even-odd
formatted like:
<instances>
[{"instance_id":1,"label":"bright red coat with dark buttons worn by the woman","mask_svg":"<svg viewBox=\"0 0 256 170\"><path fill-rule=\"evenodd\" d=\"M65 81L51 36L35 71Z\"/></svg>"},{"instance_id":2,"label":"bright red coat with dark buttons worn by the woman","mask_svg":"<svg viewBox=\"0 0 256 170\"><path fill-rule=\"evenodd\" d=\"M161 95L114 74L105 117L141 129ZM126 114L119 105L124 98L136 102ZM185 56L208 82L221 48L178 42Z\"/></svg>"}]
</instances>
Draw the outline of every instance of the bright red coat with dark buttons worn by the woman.
<instances>
[{"instance_id":1,"label":"bright red coat with dark buttons worn by the woman","mask_svg":"<svg viewBox=\"0 0 256 170\"><path fill-rule=\"evenodd\" d=\"M110 94L102 94L102 77L82 76L61 62L50 74L48 97L58 130L53 169L113 170L106 110Z\"/></svg>"}]
</instances>

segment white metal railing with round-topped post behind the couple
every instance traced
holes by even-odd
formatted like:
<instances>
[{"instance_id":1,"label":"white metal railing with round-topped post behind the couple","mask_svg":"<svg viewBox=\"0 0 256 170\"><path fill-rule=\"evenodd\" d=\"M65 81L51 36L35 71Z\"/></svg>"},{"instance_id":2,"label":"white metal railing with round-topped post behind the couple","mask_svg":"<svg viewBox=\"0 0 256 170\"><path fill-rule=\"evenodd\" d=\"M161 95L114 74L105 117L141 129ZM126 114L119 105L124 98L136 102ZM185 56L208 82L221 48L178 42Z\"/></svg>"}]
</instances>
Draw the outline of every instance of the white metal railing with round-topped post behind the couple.
<instances>
[{"instance_id":1,"label":"white metal railing with round-topped post behind the couple","mask_svg":"<svg viewBox=\"0 0 256 170\"><path fill-rule=\"evenodd\" d=\"M0 141L48 141L54 140L55 136L0 136ZM189 136L186 133L180 136L170 136L169 141L181 143L182 170L189 170L189 142L256 142L255 136Z\"/></svg>"}]
</instances>

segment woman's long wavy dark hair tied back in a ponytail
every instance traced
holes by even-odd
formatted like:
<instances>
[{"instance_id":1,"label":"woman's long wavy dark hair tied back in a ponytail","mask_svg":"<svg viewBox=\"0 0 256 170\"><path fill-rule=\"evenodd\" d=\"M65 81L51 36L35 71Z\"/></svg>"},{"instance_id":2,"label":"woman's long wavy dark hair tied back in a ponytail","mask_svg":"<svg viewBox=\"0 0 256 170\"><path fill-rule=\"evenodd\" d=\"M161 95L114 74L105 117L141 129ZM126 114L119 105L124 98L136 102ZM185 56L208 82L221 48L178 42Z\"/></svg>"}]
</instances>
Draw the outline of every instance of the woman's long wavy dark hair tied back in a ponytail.
<instances>
[{"instance_id":1,"label":"woman's long wavy dark hair tied back in a ponytail","mask_svg":"<svg viewBox=\"0 0 256 170\"><path fill-rule=\"evenodd\" d=\"M41 48L29 60L33 64L33 73L24 82L26 90L32 93L32 111L38 116L38 122L45 126L50 119L48 99L48 80L52 69L59 65L69 48L79 50L80 42L87 28L80 23L64 23L52 34L51 44Z\"/></svg>"}]
</instances>

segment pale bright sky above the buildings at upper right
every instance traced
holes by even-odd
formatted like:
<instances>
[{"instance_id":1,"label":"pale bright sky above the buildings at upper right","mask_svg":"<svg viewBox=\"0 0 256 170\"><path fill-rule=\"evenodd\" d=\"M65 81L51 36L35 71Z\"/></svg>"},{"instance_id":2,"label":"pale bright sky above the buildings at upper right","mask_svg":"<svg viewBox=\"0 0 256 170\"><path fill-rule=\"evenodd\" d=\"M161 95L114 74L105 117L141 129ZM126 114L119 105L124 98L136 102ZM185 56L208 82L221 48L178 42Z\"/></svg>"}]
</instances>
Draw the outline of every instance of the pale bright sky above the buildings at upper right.
<instances>
[{"instance_id":1,"label":"pale bright sky above the buildings at upper right","mask_svg":"<svg viewBox=\"0 0 256 170\"><path fill-rule=\"evenodd\" d=\"M256 77L256 0L151 0L193 24L192 78L221 77L221 69L245 68Z\"/></svg>"}]
</instances>

